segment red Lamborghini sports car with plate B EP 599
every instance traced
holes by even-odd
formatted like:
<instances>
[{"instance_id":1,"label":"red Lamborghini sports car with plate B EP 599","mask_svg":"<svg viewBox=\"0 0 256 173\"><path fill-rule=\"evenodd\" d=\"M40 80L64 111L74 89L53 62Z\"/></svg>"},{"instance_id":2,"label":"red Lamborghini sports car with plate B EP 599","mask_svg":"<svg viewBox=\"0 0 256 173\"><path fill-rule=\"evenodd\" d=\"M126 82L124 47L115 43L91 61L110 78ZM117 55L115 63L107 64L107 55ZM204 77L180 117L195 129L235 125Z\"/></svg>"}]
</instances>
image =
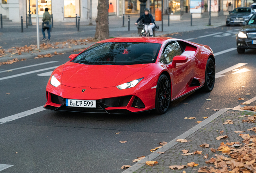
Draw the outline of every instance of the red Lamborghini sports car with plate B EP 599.
<instances>
[{"instance_id":1,"label":"red Lamborghini sports car with plate B EP 599","mask_svg":"<svg viewBox=\"0 0 256 173\"><path fill-rule=\"evenodd\" d=\"M69 58L47 83L46 109L163 114L170 101L215 83L211 48L175 38L110 38Z\"/></svg>"}]
</instances>

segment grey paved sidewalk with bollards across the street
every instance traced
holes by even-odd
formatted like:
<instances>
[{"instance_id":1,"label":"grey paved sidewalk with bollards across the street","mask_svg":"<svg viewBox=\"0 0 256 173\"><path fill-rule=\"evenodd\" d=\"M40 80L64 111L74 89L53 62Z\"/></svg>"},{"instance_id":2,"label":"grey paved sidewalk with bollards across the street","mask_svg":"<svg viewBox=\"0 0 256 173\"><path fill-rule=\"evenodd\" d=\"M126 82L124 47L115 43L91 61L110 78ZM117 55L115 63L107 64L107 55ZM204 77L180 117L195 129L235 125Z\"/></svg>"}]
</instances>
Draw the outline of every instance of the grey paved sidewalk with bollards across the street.
<instances>
[{"instance_id":1,"label":"grey paved sidewalk with bollards across the street","mask_svg":"<svg viewBox=\"0 0 256 173\"><path fill-rule=\"evenodd\" d=\"M138 36L137 33L137 26L134 25L136 20L139 16L130 16L130 31L128 31L128 17L125 17L125 27L122 27L122 18L118 18L116 16L109 16L109 36L110 37L119 37L119 36ZM170 15L171 18L171 15ZM156 36L161 36L165 34L171 34L174 32L186 32L186 31L192 31L192 30L200 30L205 28L213 28L217 26L223 26L225 25L225 16L218 16L218 17L212 17L211 18L211 26L207 26L209 22L208 13L204 13L203 18L200 19L193 19L193 26L190 26L190 14L184 13L182 16L182 20L179 21L172 21L170 20L170 26L168 26L168 16L163 16L163 32L161 32L161 21L155 21L157 25L159 25L159 30L156 32ZM30 46L35 47L37 44L37 34L36 34L36 26L33 24L33 26L29 26L26 28L26 25L24 26L24 32L21 32L21 24L20 23L14 23L14 22L5 22L3 23L3 28L0 29L0 50L4 49L5 52L8 52L8 49L10 48L16 48L21 46ZM40 34L40 44L54 44L56 42L66 42L68 39L73 40L81 40L86 38L93 38L95 35L95 28L96 23L93 21L93 26L89 26L88 22L81 22L80 23L80 31L77 31L77 28L75 27L75 19L74 22L69 23L60 23L60 22L54 22L54 28L52 28L51 32L51 42L42 42L41 39L41 25L39 28L39 34ZM47 33L46 33L47 36ZM90 44L91 45L91 44ZM87 46L77 46L75 44L69 44L68 47L65 50L58 48L58 49L48 49L48 50L40 50L41 52L39 54L48 54L48 53L54 53L55 51L57 53L61 52L70 52L74 49L83 49L88 47ZM50 47L50 46L49 46ZM1 52L1 51L0 51ZM35 51L33 51L35 53ZM25 54L31 54L31 52L25 51L22 52L23 55ZM0 54L1 56L1 54ZM33 58L33 56L17 56L14 55L4 55L0 57L0 62L5 62L7 60L11 60L13 58L23 59L23 58Z\"/></svg>"}]
</instances>

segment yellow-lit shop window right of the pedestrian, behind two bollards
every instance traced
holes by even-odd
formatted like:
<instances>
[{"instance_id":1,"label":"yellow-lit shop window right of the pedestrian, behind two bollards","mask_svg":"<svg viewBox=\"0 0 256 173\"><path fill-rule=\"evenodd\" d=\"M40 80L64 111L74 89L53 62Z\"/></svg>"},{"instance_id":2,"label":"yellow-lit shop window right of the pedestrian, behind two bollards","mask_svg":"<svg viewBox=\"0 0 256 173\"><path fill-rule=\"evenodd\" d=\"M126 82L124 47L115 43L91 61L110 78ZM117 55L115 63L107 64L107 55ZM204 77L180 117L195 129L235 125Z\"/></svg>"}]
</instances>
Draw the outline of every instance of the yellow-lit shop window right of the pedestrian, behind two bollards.
<instances>
[{"instance_id":1,"label":"yellow-lit shop window right of the pedestrian, behind two bollards","mask_svg":"<svg viewBox=\"0 0 256 173\"><path fill-rule=\"evenodd\" d=\"M64 17L71 18L80 16L79 0L64 0Z\"/></svg>"}]
</instances>

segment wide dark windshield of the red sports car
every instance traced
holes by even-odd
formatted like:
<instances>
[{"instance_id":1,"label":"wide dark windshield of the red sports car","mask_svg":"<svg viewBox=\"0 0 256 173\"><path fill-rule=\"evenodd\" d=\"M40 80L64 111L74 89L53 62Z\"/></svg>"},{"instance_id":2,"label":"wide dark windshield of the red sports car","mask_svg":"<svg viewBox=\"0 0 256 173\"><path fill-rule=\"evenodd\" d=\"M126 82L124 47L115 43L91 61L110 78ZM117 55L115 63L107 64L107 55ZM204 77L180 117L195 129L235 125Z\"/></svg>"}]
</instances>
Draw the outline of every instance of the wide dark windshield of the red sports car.
<instances>
[{"instance_id":1,"label":"wide dark windshield of the red sports car","mask_svg":"<svg viewBox=\"0 0 256 173\"><path fill-rule=\"evenodd\" d=\"M154 63L161 44L145 42L96 43L71 62L81 64L130 65Z\"/></svg>"}]
</instances>

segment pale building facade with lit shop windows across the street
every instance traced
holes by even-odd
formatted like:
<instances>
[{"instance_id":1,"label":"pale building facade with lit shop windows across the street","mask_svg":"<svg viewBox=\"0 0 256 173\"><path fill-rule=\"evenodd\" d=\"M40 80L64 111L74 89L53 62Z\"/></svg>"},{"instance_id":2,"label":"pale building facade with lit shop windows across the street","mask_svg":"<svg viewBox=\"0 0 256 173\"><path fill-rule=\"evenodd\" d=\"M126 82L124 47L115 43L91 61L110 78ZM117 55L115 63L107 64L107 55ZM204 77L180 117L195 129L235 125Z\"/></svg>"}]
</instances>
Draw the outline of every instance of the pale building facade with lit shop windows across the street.
<instances>
[{"instance_id":1,"label":"pale building facade with lit shop windows across the street","mask_svg":"<svg viewBox=\"0 0 256 173\"><path fill-rule=\"evenodd\" d=\"M218 11L227 11L227 6L231 2L233 9L241 6L241 0L214 0L218 2ZM250 6L253 0L243 0L244 6ZM97 17L97 0L91 0L92 19ZM151 13L155 13L157 8L161 9L162 0L147 0L147 8ZM202 8L207 11L209 0L202 0ZM21 16L31 14L32 22L36 18L36 0L0 0L0 14L6 16L14 22L19 22ZM80 16L81 21L89 20L90 0L38 0L39 18L47 7L50 14L53 14L56 22L70 22ZM187 6L187 7L186 7ZM29 8L30 7L30 8ZM190 0L163 0L164 14L182 15L190 8ZM140 13L139 0L109 0L109 16L122 17L125 15L138 15Z\"/></svg>"}]
</instances>

